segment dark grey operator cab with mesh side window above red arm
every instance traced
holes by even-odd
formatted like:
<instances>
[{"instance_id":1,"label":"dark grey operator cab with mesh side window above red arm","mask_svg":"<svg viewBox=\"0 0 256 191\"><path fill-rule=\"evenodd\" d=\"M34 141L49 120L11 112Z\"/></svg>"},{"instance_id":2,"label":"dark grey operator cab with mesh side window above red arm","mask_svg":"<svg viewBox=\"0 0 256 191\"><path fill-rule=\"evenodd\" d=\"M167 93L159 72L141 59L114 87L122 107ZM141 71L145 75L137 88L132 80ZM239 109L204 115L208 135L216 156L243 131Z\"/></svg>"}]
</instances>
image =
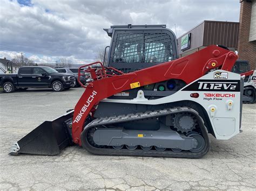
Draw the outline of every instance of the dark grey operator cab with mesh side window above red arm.
<instances>
[{"instance_id":1,"label":"dark grey operator cab with mesh side window above red arm","mask_svg":"<svg viewBox=\"0 0 256 191\"><path fill-rule=\"evenodd\" d=\"M106 65L124 73L178 58L176 36L166 25L116 25L104 31L111 37Z\"/></svg>"}]
</instances>

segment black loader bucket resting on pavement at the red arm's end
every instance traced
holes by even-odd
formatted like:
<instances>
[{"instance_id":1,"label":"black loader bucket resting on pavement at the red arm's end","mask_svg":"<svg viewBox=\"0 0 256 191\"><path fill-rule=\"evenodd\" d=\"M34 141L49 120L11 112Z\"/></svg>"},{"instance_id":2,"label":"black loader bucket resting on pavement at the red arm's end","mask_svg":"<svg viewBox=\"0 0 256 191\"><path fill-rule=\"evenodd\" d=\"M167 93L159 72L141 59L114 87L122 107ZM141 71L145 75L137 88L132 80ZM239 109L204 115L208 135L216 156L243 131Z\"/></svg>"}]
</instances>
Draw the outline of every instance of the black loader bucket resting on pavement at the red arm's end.
<instances>
[{"instance_id":1,"label":"black loader bucket resting on pavement at the red arm's end","mask_svg":"<svg viewBox=\"0 0 256 191\"><path fill-rule=\"evenodd\" d=\"M11 146L9 154L40 154L56 155L60 151L72 145L66 121L73 117L73 110L53 121L45 121L28 135Z\"/></svg>"}]
</instances>

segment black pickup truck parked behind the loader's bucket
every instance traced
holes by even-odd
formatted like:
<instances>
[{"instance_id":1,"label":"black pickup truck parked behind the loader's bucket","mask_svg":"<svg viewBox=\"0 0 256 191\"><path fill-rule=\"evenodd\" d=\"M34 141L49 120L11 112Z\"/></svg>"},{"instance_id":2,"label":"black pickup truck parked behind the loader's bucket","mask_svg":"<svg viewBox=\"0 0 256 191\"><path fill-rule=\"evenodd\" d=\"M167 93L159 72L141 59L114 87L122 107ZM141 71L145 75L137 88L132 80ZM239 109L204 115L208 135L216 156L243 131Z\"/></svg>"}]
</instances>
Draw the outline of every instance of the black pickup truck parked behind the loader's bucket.
<instances>
[{"instance_id":1,"label":"black pickup truck parked behind the loader's bucket","mask_svg":"<svg viewBox=\"0 0 256 191\"><path fill-rule=\"evenodd\" d=\"M53 91L62 91L75 86L73 74L59 73L50 67L24 66L18 74L0 74L0 87L5 93L11 93L16 88L44 88L50 87Z\"/></svg>"}]
</instances>

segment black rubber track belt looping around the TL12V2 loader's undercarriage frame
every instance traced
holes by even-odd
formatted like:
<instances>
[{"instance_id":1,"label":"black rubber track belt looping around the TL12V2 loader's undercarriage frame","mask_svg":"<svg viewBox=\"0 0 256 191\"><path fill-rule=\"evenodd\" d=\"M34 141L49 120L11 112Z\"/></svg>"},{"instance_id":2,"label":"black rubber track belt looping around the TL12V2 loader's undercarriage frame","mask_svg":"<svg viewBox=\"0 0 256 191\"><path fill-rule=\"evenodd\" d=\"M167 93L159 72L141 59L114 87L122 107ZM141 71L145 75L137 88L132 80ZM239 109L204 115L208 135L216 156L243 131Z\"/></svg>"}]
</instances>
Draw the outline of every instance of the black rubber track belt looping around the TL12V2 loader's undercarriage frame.
<instances>
[{"instance_id":1,"label":"black rubber track belt looping around the TL12V2 loader's undercarriage frame","mask_svg":"<svg viewBox=\"0 0 256 191\"><path fill-rule=\"evenodd\" d=\"M191 151L173 152L169 150L160 152L156 150L144 151L141 149L131 151L127 149L115 150L114 148L98 148L98 147L92 146L86 138L88 130L95 126L109 125L109 124L121 123L121 122L123 123L123 122L129 122L129 121L151 118L151 117L160 117L160 116L165 116L170 114L178 114L179 112L189 112L196 117L202 136L205 139L205 147L200 152L197 152L197 153L194 153ZM210 148L210 141L207 135L207 130L204 125L203 119L199 116L197 111L188 107L166 108L163 110L148 111L144 113L138 112L138 113L128 114L128 115L97 118L85 126L84 131L81 134L81 140L82 140L83 147L87 151L93 154L100 154L100 155L135 155L135 156L147 156L147 157L201 158L208 152Z\"/></svg>"}]
</instances>

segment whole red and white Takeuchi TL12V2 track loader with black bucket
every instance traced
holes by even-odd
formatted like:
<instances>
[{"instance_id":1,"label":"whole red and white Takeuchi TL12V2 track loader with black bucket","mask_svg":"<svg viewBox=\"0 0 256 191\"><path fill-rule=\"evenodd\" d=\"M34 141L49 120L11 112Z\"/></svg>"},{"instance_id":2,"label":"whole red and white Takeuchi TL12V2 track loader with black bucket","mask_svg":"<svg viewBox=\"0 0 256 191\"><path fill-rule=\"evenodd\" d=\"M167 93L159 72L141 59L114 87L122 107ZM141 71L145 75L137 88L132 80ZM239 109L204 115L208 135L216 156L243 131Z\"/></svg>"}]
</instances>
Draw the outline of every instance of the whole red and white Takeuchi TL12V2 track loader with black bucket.
<instances>
[{"instance_id":1,"label":"whole red and white Takeuchi TL12V2 track loader with black bucket","mask_svg":"<svg viewBox=\"0 0 256 191\"><path fill-rule=\"evenodd\" d=\"M79 145L93 154L200 158L208 133L221 140L239 133L244 80L230 72L235 53L212 45L178 59L165 25L105 31L107 65L79 68L88 79L79 82L85 91L75 109L39 125L10 154L56 155Z\"/></svg>"}]
</instances>

